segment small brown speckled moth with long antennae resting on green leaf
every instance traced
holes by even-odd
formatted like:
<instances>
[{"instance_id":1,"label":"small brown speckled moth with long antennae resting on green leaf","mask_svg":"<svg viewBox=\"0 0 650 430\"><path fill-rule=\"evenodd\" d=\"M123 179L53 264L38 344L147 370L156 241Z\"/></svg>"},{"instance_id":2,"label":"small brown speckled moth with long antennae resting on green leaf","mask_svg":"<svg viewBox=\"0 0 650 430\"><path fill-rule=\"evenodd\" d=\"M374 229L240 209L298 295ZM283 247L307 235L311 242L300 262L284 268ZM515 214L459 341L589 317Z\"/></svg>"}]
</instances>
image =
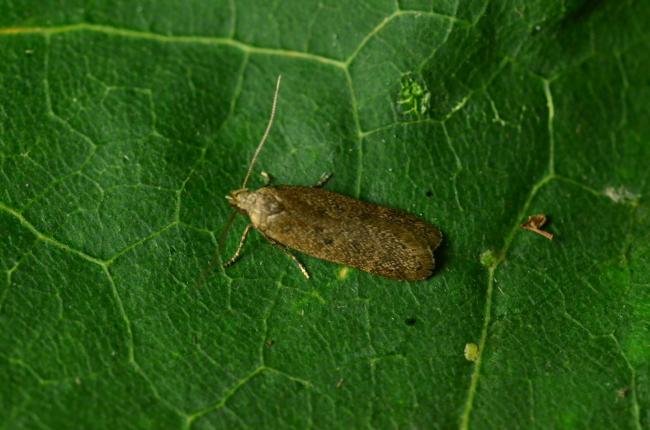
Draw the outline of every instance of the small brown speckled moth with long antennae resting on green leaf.
<instances>
[{"instance_id":1,"label":"small brown speckled moth with long antennae resting on green leaf","mask_svg":"<svg viewBox=\"0 0 650 430\"><path fill-rule=\"evenodd\" d=\"M233 257L233 264L251 229L284 250L309 278L305 267L290 249L335 263L356 267L392 279L415 281L432 275L433 252L442 235L431 224L408 213L362 202L321 186L264 186L249 190L246 183L253 164L273 124L280 77L266 131L253 155L242 188L226 198L250 218Z\"/></svg>"}]
</instances>

